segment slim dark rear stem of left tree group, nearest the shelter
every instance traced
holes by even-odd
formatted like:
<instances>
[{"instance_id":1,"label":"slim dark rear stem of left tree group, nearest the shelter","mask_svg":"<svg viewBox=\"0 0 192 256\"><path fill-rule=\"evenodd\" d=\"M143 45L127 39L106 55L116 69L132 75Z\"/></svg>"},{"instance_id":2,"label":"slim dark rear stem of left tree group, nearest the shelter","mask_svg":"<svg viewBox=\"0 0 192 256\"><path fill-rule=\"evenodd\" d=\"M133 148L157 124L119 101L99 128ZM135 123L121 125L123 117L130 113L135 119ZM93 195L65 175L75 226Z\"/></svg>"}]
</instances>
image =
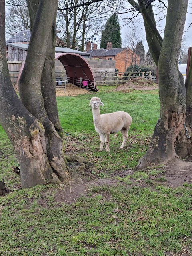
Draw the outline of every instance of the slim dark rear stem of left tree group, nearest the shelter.
<instances>
[{"instance_id":1,"label":"slim dark rear stem of left tree group, nearest the shelter","mask_svg":"<svg viewBox=\"0 0 192 256\"><path fill-rule=\"evenodd\" d=\"M41 76L41 91L44 107L50 122L43 123L46 131L46 146L50 165L62 181L69 179L69 174L64 160L63 130L57 110L55 89L55 26L52 27L46 59Z\"/></svg>"}]
</instances>

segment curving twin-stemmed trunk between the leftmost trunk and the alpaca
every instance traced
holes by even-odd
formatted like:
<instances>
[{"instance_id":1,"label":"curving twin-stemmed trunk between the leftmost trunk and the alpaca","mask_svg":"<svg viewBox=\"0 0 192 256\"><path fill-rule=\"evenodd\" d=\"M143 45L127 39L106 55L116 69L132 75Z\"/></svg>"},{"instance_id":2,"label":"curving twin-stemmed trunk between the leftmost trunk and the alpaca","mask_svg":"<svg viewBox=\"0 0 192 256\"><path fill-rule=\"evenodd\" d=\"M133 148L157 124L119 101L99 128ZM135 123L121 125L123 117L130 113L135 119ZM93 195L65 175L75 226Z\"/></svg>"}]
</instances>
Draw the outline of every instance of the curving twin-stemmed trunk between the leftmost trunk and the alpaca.
<instances>
[{"instance_id":1,"label":"curving twin-stemmed trunk between the leftmost trunk and the alpaca","mask_svg":"<svg viewBox=\"0 0 192 256\"><path fill-rule=\"evenodd\" d=\"M64 182L68 181L70 176L64 161L63 134L55 93L54 20L57 2L57 0L40 0L36 18L31 22L32 36L19 81L19 92L26 108L42 122L50 165L53 172ZM49 10L52 10L51 15L47 15ZM35 12L35 8L32 11Z\"/></svg>"}]
</instances>

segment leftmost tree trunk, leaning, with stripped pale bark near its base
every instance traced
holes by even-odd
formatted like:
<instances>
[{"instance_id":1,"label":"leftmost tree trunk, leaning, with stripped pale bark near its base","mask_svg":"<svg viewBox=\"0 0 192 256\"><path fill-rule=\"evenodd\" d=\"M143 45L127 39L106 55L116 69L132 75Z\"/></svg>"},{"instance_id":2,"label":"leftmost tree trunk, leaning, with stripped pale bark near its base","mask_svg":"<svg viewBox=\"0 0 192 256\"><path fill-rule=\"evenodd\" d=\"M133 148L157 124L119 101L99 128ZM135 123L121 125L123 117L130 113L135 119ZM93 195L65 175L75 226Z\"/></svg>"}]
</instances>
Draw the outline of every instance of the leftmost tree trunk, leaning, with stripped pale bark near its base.
<instances>
[{"instance_id":1,"label":"leftmost tree trunk, leaning, with stripped pale bark near its base","mask_svg":"<svg viewBox=\"0 0 192 256\"><path fill-rule=\"evenodd\" d=\"M44 128L24 107L10 81L5 52L5 2L0 1L0 124L10 138L20 164L22 188L52 179Z\"/></svg>"}]
</instances>

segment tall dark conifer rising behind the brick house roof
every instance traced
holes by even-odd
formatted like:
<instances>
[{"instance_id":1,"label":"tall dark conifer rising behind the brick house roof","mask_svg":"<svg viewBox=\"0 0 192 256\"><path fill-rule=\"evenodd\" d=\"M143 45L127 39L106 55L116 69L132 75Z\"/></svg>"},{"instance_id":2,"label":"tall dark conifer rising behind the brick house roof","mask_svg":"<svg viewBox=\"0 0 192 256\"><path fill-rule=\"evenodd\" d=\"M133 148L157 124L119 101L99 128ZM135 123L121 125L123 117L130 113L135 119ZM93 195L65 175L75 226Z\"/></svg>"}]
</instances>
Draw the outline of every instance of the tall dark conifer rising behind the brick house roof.
<instances>
[{"instance_id":1,"label":"tall dark conifer rising behind the brick house roof","mask_svg":"<svg viewBox=\"0 0 192 256\"><path fill-rule=\"evenodd\" d=\"M120 24L118 22L117 15L111 15L108 18L105 28L102 31L100 48L106 49L107 42L112 42L112 48L120 48L122 41L121 41L121 33L120 33Z\"/></svg>"}]
</instances>

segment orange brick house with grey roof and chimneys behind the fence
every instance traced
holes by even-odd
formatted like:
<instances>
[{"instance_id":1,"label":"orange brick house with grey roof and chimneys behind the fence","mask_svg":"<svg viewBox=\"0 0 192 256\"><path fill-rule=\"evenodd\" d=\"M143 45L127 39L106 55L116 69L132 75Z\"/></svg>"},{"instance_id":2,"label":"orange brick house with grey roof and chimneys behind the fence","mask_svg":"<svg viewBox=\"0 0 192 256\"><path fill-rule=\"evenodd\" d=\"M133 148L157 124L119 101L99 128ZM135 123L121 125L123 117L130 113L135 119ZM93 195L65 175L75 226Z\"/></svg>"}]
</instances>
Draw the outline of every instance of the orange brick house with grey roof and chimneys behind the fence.
<instances>
[{"instance_id":1,"label":"orange brick house with grey roof and chimneys behind the fence","mask_svg":"<svg viewBox=\"0 0 192 256\"><path fill-rule=\"evenodd\" d=\"M91 50L91 42L86 44L86 52L92 53L92 58L99 58L103 60L115 60L115 68L119 72L125 72L133 59L134 64L139 65L140 57L137 54L132 54L132 50L128 47L124 48L112 48L112 42L107 43L106 49L97 49L97 44L93 44L93 50Z\"/></svg>"}]
</instances>

